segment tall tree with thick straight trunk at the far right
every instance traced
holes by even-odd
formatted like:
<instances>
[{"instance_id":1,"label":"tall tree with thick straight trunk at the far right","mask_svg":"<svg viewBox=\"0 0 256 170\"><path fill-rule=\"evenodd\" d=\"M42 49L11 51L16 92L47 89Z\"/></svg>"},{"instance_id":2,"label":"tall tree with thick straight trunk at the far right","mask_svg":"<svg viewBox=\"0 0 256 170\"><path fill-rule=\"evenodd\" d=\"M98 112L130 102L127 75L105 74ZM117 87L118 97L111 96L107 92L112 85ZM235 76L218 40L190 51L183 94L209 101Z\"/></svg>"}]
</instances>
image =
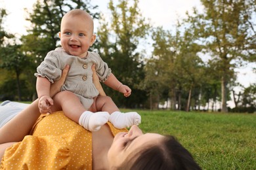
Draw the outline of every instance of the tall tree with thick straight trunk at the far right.
<instances>
[{"instance_id":1,"label":"tall tree with thick straight trunk at the far right","mask_svg":"<svg viewBox=\"0 0 256 170\"><path fill-rule=\"evenodd\" d=\"M255 61L255 2L250 0L202 0L205 14L188 15L191 31L219 67L222 111L227 112L227 84L241 61Z\"/></svg>"}]
</instances>

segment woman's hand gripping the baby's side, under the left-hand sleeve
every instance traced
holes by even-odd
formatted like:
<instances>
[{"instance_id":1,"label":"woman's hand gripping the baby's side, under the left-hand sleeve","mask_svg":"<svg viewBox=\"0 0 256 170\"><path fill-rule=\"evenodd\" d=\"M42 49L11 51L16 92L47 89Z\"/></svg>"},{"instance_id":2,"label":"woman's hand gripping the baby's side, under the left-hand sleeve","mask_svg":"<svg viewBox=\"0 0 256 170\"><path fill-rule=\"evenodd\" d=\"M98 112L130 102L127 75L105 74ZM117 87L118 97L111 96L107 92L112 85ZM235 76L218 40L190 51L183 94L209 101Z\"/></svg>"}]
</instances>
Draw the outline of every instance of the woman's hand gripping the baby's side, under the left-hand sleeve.
<instances>
[{"instance_id":1,"label":"woman's hand gripping the baby's side, under the left-hand sleeve","mask_svg":"<svg viewBox=\"0 0 256 170\"><path fill-rule=\"evenodd\" d=\"M70 70L70 65L66 65L65 68L62 70L62 75L60 79L54 82L53 84L51 84L51 89L50 89L51 97L53 97L53 95L55 95L56 93L60 92L60 88L64 84L69 70Z\"/></svg>"}]
</instances>

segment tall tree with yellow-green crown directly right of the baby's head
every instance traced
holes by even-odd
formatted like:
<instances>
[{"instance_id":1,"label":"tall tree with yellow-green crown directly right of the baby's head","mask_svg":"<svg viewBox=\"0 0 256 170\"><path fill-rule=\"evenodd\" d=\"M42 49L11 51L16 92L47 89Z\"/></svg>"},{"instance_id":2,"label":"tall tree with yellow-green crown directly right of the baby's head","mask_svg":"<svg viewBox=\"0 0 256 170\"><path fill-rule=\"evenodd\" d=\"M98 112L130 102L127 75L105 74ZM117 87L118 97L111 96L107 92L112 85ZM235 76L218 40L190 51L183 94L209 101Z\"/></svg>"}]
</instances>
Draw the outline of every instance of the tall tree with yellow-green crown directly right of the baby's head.
<instances>
[{"instance_id":1,"label":"tall tree with yellow-green crown directly right of the baby's head","mask_svg":"<svg viewBox=\"0 0 256 170\"><path fill-rule=\"evenodd\" d=\"M110 22L102 19L95 44L114 75L133 90L133 95L125 99L118 92L105 88L106 93L122 107L139 107L138 103L146 99L145 92L139 89L140 81L144 79L144 63L138 46L140 39L146 36L149 25L140 14L138 2L119 0L114 4L111 0L108 4L112 14Z\"/></svg>"}]
</instances>

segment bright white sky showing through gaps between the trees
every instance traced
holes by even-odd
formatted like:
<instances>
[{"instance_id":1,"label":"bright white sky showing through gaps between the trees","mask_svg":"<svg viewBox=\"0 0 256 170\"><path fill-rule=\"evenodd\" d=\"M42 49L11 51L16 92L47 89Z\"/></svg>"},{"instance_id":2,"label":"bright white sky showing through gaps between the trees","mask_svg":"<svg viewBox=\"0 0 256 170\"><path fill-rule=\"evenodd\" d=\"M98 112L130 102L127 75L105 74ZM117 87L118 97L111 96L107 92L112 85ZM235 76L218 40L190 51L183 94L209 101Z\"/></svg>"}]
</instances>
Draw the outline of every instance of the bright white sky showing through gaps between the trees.
<instances>
[{"instance_id":1,"label":"bright white sky showing through gaps between the trees","mask_svg":"<svg viewBox=\"0 0 256 170\"><path fill-rule=\"evenodd\" d=\"M0 8L5 8L8 12L5 20L5 28L8 32L16 33L17 36L26 34L26 29L30 23L25 20L24 8L32 9L35 1L0 0ZM91 4L98 5L98 9L108 15L110 14L107 9L108 2L107 0L92 0ZM140 0L139 2L142 16L150 19L152 25L163 26L164 29L171 29L177 19L184 18L186 11L191 11L192 7L202 10L200 0ZM250 83L256 83L256 74L252 71L253 67L256 67L255 63L235 69L238 71L238 82L245 87L249 86Z\"/></svg>"}]
</instances>

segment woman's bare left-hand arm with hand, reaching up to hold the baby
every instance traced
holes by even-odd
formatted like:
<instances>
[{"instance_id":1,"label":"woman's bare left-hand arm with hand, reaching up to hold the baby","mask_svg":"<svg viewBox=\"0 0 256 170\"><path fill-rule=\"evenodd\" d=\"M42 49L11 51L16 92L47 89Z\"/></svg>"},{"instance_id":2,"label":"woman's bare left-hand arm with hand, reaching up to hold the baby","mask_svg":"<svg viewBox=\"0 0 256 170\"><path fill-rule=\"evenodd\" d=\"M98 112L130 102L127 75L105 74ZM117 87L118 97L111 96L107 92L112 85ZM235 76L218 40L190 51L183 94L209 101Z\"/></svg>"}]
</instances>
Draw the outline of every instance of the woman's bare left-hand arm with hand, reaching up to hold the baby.
<instances>
[{"instance_id":1,"label":"woman's bare left-hand arm with hand, reaching up to hold the baby","mask_svg":"<svg viewBox=\"0 0 256 170\"><path fill-rule=\"evenodd\" d=\"M68 74L69 65L67 65L62 71L62 77L60 80L54 82L51 86L50 95L53 97L56 93L60 92L62 84L64 84L66 75ZM5 126L0 129L0 144L9 142L19 142L22 141L24 136L30 133L35 121L40 116L38 109L38 99L33 101L33 103L17 114L12 120L10 120Z\"/></svg>"}]
</instances>

